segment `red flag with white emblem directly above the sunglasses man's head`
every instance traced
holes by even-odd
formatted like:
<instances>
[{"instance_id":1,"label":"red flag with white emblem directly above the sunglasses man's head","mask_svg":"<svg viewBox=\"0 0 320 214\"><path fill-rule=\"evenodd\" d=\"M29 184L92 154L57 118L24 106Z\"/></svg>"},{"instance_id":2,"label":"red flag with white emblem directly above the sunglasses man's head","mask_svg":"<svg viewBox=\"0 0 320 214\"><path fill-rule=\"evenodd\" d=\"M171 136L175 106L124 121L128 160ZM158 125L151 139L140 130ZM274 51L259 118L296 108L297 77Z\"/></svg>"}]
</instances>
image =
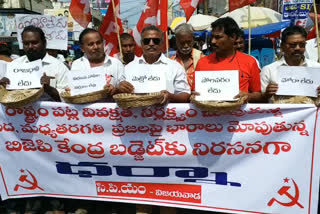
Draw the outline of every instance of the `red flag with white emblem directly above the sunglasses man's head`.
<instances>
[{"instance_id":1,"label":"red flag with white emblem directly above the sunglasses man's head","mask_svg":"<svg viewBox=\"0 0 320 214\"><path fill-rule=\"evenodd\" d=\"M168 17L167 0L147 0L137 25L132 30L132 36L137 44L135 52L137 56L142 55L141 36L142 29L148 25L156 25L163 32L167 31ZM165 38L165 37L164 37ZM164 42L165 44L165 42Z\"/></svg>"}]
</instances>

